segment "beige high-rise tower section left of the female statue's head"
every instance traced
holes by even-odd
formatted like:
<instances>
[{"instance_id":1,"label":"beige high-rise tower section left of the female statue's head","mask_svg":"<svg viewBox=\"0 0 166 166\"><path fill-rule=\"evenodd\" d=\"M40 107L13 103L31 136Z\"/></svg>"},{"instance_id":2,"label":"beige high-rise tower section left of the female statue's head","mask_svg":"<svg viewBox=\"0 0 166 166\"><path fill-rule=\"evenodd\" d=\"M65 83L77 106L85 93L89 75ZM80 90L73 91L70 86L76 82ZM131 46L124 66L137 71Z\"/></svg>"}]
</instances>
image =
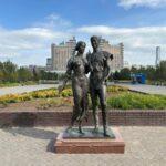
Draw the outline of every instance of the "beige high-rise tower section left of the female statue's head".
<instances>
[{"instance_id":1,"label":"beige high-rise tower section left of the female statue's head","mask_svg":"<svg viewBox=\"0 0 166 166\"><path fill-rule=\"evenodd\" d=\"M76 40L69 40L68 42L62 42L56 45L54 43L51 44L51 70L52 71L65 71L68 60L72 56L74 48L76 45Z\"/></svg>"}]
</instances>

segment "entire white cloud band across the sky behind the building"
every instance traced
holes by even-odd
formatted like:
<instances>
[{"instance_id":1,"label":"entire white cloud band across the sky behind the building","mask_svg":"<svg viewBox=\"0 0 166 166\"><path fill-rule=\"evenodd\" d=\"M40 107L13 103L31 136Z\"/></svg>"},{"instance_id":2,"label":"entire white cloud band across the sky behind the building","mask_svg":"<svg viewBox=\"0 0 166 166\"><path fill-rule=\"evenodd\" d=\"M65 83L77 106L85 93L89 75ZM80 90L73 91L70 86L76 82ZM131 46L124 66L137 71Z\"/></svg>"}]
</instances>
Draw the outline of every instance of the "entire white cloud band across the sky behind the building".
<instances>
[{"instance_id":1,"label":"entire white cloud band across the sky behind the building","mask_svg":"<svg viewBox=\"0 0 166 166\"><path fill-rule=\"evenodd\" d=\"M63 20L51 14L48 20ZM58 23L59 22L59 23ZM52 25L51 25L52 24ZM114 28L87 25L72 28L68 21L33 24L25 29L8 30L0 27L0 60L8 58L18 64L45 64L51 56L50 44L59 43L75 35L86 42L86 51L92 49L90 37L102 35L111 44L124 43L124 56L131 63L154 64L155 46L162 46L162 58L166 59L166 27Z\"/></svg>"}]
</instances>

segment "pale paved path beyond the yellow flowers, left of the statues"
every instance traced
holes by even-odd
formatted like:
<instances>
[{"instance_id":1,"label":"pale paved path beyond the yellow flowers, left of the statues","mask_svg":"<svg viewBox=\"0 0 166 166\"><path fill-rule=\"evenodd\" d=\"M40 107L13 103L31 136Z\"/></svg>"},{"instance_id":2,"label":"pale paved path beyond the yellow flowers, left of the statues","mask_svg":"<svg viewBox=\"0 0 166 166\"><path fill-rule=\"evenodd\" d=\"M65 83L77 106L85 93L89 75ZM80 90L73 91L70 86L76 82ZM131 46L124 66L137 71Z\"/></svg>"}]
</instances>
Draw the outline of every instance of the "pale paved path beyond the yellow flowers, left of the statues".
<instances>
[{"instance_id":1,"label":"pale paved path beyond the yellow flowers, left of the statues","mask_svg":"<svg viewBox=\"0 0 166 166\"><path fill-rule=\"evenodd\" d=\"M58 84L39 84L39 85L27 85L27 86L1 87L0 95L32 92L32 91L45 90L45 89L51 89L56 86Z\"/></svg>"}]
</instances>

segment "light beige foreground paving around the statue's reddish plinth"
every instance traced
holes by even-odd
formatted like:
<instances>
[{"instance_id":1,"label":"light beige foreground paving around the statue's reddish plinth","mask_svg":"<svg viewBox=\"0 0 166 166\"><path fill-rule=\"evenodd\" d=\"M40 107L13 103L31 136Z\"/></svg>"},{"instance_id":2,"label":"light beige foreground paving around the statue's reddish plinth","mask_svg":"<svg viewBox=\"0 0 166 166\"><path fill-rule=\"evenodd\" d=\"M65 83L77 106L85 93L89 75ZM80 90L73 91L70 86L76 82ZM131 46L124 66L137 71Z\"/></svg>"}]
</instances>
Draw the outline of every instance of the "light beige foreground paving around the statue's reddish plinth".
<instances>
[{"instance_id":1,"label":"light beige foreground paving around the statue's reddish plinth","mask_svg":"<svg viewBox=\"0 0 166 166\"><path fill-rule=\"evenodd\" d=\"M54 154L63 128L0 128L0 166L165 166L166 127L120 127L125 154Z\"/></svg>"}]
</instances>

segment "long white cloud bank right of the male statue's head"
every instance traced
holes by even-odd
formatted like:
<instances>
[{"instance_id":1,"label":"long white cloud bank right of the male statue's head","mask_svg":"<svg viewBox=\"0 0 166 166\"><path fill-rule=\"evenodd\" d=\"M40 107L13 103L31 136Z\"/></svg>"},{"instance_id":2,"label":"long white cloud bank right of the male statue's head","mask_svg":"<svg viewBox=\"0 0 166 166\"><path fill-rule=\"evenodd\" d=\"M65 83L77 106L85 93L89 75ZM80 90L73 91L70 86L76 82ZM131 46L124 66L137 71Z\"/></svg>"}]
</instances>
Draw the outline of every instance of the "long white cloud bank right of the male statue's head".
<instances>
[{"instance_id":1,"label":"long white cloud bank right of the male statue's head","mask_svg":"<svg viewBox=\"0 0 166 166\"><path fill-rule=\"evenodd\" d=\"M166 27L112 28L104 25L82 27L77 32L102 35L112 44L124 43L124 56L131 63L154 64L155 48L162 48L166 59Z\"/></svg>"}]
</instances>

